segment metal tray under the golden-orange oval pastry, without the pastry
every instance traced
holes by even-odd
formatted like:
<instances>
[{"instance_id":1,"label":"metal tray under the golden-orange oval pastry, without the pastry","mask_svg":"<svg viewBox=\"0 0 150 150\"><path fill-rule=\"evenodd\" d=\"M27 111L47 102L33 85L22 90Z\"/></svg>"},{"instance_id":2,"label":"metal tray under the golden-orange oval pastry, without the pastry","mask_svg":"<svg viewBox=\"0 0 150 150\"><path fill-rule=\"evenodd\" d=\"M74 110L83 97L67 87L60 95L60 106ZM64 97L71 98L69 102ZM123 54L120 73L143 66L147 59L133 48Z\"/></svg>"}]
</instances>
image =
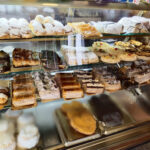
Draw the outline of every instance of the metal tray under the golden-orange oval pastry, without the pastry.
<instances>
[{"instance_id":1,"label":"metal tray under the golden-orange oval pastry, without the pastry","mask_svg":"<svg viewBox=\"0 0 150 150\"><path fill-rule=\"evenodd\" d=\"M66 147L101 137L98 128L96 129L95 134L90 136L86 136L76 132L73 128L71 128L67 117L62 113L60 109L56 109L55 111L55 121L61 140Z\"/></svg>"}]
</instances>

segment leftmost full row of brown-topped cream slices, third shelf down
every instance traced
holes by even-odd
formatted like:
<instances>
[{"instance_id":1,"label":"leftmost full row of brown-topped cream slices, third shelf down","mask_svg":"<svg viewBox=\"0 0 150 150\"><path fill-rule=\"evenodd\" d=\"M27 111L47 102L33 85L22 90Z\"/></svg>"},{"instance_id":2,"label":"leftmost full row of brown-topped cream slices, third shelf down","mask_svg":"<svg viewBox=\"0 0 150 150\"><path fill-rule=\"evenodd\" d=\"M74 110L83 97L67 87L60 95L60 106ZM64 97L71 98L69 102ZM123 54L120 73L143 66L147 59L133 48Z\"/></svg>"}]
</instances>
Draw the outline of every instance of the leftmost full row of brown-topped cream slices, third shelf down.
<instances>
[{"instance_id":1,"label":"leftmost full row of brown-topped cream slices, third shelf down","mask_svg":"<svg viewBox=\"0 0 150 150\"><path fill-rule=\"evenodd\" d=\"M31 74L15 76L12 81L12 105L19 108L35 104L35 86Z\"/></svg>"}]
</instances>

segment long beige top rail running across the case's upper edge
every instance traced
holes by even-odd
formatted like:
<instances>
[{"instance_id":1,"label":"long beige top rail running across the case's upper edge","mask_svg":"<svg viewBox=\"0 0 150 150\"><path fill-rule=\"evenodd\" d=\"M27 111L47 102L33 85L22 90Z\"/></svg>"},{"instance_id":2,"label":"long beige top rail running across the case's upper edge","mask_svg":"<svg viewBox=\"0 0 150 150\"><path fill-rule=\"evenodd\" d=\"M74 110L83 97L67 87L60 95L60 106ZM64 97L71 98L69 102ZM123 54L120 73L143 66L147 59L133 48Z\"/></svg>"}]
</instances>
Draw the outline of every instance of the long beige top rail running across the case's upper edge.
<instances>
[{"instance_id":1,"label":"long beige top rail running across the case's upper edge","mask_svg":"<svg viewBox=\"0 0 150 150\"><path fill-rule=\"evenodd\" d=\"M150 4L140 3L99 3L94 0L1 0L3 5L24 5L24 6L49 6L61 8L107 8L107 9L131 9L131 10L147 10L150 11Z\"/></svg>"}]
</instances>

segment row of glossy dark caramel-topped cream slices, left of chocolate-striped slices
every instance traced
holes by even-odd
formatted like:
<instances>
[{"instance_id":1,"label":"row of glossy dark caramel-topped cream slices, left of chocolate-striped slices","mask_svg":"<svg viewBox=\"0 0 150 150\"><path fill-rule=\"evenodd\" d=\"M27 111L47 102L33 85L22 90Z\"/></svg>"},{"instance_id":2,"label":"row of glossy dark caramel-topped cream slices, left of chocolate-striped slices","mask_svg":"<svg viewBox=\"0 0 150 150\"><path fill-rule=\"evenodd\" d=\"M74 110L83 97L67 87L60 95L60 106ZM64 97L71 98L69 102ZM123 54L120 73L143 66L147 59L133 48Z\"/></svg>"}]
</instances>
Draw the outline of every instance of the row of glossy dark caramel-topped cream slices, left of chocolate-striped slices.
<instances>
[{"instance_id":1,"label":"row of glossy dark caramel-topped cream slices, left of chocolate-striped slices","mask_svg":"<svg viewBox=\"0 0 150 150\"><path fill-rule=\"evenodd\" d=\"M81 98L84 96L83 89L81 84L71 73L58 73L55 75L56 80L58 81L62 97L65 100Z\"/></svg>"}]
</instances>

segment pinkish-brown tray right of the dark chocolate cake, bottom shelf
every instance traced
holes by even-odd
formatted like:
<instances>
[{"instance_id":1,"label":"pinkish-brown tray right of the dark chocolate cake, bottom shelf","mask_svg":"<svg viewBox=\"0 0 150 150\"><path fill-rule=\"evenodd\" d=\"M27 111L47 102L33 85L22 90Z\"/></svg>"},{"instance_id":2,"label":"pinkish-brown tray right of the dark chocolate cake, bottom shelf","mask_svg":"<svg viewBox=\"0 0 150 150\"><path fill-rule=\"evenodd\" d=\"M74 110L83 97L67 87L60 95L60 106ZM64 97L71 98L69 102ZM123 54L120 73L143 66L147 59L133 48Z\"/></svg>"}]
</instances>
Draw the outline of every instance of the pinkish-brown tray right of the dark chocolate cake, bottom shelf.
<instances>
[{"instance_id":1,"label":"pinkish-brown tray right of the dark chocolate cake, bottom shelf","mask_svg":"<svg viewBox=\"0 0 150 150\"><path fill-rule=\"evenodd\" d=\"M138 97L133 93L122 90L116 93L110 94L112 100L118 105L120 109L126 112L130 118L133 118L133 124L139 124L150 120L150 114L140 106ZM144 99L142 99L144 101Z\"/></svg>"}]
</instances>

